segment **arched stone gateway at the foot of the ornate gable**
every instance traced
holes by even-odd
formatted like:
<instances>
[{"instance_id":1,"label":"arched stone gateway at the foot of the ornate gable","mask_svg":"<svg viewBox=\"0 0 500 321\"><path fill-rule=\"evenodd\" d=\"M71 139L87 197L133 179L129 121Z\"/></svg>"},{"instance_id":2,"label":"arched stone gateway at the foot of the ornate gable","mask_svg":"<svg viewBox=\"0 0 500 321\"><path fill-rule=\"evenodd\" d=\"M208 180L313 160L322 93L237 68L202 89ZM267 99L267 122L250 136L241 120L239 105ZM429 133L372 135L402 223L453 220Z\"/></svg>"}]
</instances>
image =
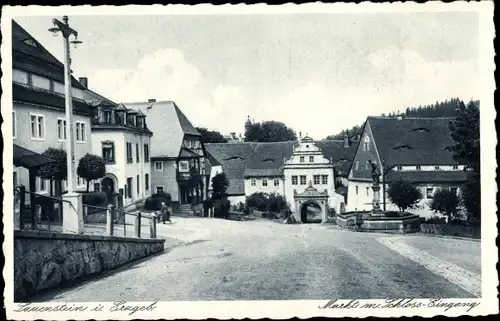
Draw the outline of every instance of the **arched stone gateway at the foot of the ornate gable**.
<instances>
[{"instance_id":1,"label":"arched stone gateway at the foot of the ornate gable","mask_svg":"<svg viewBox=\"0 0 500 321\"><path fill-rule=\"evenodd\" d=\"M295 219L300 223L325 223L328 215L328 192L318 191L309 182L303 193L294 190Z\"/></svg>"}]
</instances>

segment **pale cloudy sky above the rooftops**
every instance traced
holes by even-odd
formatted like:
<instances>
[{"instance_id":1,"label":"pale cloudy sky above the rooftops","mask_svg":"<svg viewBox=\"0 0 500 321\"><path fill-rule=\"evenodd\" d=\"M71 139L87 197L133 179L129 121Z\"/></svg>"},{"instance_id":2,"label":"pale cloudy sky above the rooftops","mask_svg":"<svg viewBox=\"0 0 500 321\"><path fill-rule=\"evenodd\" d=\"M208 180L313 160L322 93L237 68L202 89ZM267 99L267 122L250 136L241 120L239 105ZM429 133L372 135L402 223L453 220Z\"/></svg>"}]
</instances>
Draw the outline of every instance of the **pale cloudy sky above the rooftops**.
<instances>
[{"instance_id":1,"label":"pale cloudy sky above the rooftops","mask_svg":"<svg viewBox=\"0 0 500 321\"><path fill-rule=\"evenodd\" d=\"M16 17L62 60L53 17ZM59 17L60 18L60 17ZM322 139L369 115L480 99L474 12L70 16L75 77L115 102L173 100L195 126L247 116Z\"/></svg>"}]
</instances>

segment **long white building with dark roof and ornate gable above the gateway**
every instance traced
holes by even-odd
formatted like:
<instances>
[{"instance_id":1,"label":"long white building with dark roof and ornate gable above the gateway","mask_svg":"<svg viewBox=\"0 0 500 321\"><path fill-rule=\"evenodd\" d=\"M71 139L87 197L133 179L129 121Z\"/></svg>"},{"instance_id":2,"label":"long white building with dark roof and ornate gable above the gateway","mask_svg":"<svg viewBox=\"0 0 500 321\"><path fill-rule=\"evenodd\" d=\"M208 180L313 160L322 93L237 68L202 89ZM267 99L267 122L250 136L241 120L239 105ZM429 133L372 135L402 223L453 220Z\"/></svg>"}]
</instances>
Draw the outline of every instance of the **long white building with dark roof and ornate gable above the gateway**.
<instances>
[{"instance_id":1,"label":"long white building with dark roof and ornate gable above the gateway","mask_svg":"<svg viewBox=\"0 0 500 321\"><path fill-rule=\"evenodd\" d=\"M276 193L286 198L292 211L295 194L312 186L328 194L328 205L339 211L345 197L336 186L342 182L343 159L355 151L350 142L300 141L271 143L206 144L207 152L221 164L229 180L231 204L244 203L256 192ZM339 177L337 177L339 175Z\"/></svg>"}]
</instances>

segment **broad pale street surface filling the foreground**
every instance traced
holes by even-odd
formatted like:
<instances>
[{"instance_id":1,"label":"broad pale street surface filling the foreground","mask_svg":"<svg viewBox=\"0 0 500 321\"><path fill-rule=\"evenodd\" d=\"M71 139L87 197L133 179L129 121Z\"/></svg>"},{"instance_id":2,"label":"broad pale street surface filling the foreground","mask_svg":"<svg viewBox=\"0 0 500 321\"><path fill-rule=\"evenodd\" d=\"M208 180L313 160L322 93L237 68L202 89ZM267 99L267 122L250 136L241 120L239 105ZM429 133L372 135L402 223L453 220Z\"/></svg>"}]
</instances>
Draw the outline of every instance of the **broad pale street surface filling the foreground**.
<instances>
[{"instance_id":1,"label":"broad pale street surface filling the foreground","mask_svg":"<svg viewBox=\"0 0 500 321\"><path fill-rule=\"evenodd\" d=\"M176 218L164 254L43 301L480 297L480 243L320 224ZM36 300L38 301L38 300Z\"/></svg>"}]
</instances>

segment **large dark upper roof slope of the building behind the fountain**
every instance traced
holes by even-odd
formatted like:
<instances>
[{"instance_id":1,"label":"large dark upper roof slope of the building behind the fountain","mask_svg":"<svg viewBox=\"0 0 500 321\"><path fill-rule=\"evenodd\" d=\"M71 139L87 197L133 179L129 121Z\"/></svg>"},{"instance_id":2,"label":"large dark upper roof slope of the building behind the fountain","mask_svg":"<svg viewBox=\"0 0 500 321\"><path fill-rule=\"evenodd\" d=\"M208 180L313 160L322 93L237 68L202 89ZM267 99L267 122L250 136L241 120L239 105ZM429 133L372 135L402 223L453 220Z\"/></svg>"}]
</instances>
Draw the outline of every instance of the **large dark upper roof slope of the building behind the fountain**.
<instances>
[{"instance_id":1,"label":"large dark upper roof slope of the building behind the fountain","mask_svg":"<svg viewBox=\"0 0 500 321\"><path fill-rule=\"evenodd\" d=\"M456 164L446 148L454 144L451 118L368 117L385 166Z\"/></svg>"}]
</instances>

